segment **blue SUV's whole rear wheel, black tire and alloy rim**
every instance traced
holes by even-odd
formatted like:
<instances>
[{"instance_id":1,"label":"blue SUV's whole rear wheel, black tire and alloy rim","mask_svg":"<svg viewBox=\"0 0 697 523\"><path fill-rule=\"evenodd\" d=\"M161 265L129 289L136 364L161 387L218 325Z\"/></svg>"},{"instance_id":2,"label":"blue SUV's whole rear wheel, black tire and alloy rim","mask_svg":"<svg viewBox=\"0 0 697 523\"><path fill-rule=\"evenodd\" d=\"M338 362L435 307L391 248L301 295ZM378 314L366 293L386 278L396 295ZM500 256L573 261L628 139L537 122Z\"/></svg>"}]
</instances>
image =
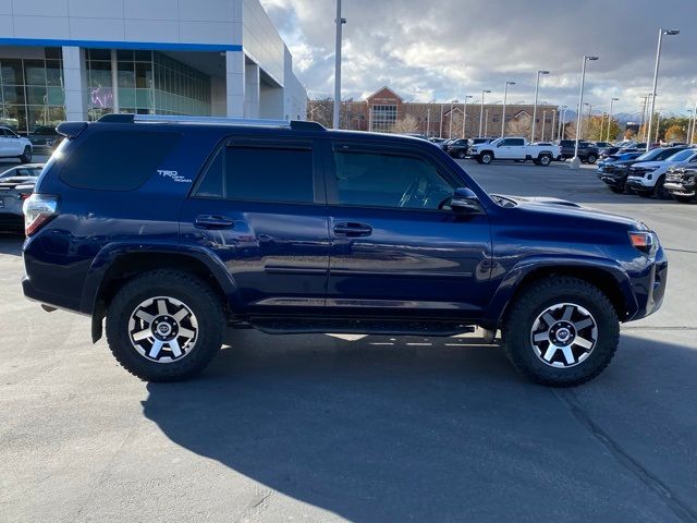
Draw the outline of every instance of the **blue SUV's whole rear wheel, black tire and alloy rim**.
<instances>
[{"instance_id":1,"label":"blue SUV's whole rear wheel, black tire and alloy rim","mask_svg":"<svg viewBox=\"0 0 697 523\"><path fill-rule=\"evenodd\" d=\"M146 381L200 373L222 345L225 316L197 277L157 270L129 281L107 311L107 340L117 361Z\"/></svg>"}]
</instances>

